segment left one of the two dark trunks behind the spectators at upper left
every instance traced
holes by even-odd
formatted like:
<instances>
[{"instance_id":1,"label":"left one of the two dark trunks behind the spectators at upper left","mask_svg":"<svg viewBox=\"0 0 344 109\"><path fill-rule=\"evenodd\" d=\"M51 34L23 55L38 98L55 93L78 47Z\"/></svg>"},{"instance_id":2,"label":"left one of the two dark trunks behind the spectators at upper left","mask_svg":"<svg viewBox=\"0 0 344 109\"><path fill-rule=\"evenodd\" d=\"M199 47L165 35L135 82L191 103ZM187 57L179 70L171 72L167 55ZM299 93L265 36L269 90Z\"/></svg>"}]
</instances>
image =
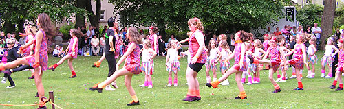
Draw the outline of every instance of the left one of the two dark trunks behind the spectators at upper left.
<instances>
[{"instance_id":1,"label":"left one of the two dark trunks behind the spectators at upper left","mask_svg":"<svg viewBox=\"0 0 344 109\"><path fill-rule=\"evenodd\" d=\"M76 1L77 8L85 8L85 0ZM76 14L75 28L85 26L85 14Z\"/></svg>"}]
</instances>

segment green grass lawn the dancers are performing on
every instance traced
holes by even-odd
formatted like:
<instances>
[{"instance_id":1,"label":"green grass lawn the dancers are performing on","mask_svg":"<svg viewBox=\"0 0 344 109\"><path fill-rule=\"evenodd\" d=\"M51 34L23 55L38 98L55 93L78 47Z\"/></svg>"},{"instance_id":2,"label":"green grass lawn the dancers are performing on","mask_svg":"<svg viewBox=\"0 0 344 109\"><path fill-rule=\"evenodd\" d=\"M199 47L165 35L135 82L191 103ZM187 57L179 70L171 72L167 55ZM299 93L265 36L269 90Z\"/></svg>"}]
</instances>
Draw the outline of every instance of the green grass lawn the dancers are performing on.
<instances>
[{"instance_id":1,"label":"green grass lawn the dancers are performing on","mask_svg":"<svg viewBox=\"0 0 344 109\"><path fill-rule=\"evenodd\" d=\"M344 91L335 92L328 88L333 79L320 77L321 65L320 58L323 51L318 51L319 58L316 64L316 77L308 79L305 77L307 71L303 71L303 86L305 90L294 91L297 87L297 80L289 79L287 82L278 83L281 86L281 93L272 94L273 86L268 80L267 71L261 71L261 83L246 85L244 89L248 99L236 100L234 97L239 95L239 90L235 84L235 75L230 75L229 86L219 86L219 88L208 88L206 83L205 69L202 69L198 75L200 82L201 101L192 103L184 102L187 85L185 79L186 58L180 60L181 71L178 73L180 86L166 87L168 73L164 65L165 57L158 56L155 61L155 72L153 77L153 88L141 88L138 85L143 84L144 75L134 75L131 82L136 90L140 106L126 106L131 97L125 88L123 77L119 77L116 82L120 88L116 91L103 91L97 93L89 91L95 83L103 82L107 77L107 61L103 61L100 68L92 68L93 62L96 62L100 56L83 57L78 56L73 62L77 78L69 79L71 75L67 62L58 66L55 71L45 71L43 73L43 85L45 86L45 96L48 96L50 90L54 91L55 102L62 108L342 108ZM49 58L49 65L54 64L60 58ZM231 62L233 63L233 62ZM288 70L288 77L291 75L291 69ZM1 76L3 74L1 73ZM35 104L37 100L36 86L33 86L34 80L28 80L30 71L21 71L13 73L12 77L16 83L15 88L7 89L6 84L0 84L0 104ZM218 77L222 74L219 73ZM277 75L274 75L275 78ZM36 108L31 107L9 107L0 106L0 108ZM51 108L48 104L47 108Z\"/></svg>"}]
</instances>

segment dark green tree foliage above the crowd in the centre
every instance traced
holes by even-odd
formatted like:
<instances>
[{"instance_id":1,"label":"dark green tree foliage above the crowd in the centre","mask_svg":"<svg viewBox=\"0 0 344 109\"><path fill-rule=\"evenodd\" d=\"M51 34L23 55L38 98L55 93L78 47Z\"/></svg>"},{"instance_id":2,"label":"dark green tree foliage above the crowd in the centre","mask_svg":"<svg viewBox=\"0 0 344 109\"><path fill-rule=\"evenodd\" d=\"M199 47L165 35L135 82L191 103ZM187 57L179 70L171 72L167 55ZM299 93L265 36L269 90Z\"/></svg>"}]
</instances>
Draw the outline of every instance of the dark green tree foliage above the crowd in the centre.
<instances>
[{"instance_id":1,"label":"dark green tree foliage above the crowd in the centre","mask_svg":"<svg viewBox=\"0 0 344 109\"><path fill-rule=\"evenodd\" d=\"M124 25L167 25L171 29L187 30L187 20L198 17L208 31L224 33L239 29L265 27L283 16L283 3L290 0L109 0L119 11Z\"/></svg>"}]
</instances>

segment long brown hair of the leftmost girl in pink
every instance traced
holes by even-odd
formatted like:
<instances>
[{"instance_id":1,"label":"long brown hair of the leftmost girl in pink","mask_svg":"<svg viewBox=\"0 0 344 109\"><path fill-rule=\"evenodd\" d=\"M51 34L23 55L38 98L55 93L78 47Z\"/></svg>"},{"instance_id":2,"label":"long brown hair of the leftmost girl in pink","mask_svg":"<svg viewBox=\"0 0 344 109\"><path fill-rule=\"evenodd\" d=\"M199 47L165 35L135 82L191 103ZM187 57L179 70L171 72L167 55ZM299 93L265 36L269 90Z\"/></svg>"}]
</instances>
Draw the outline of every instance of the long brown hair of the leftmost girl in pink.
<instances>
[{"instance_id":1,"label":"long brown hair of the leftmost girl in pink","mask_svg":"<svg viewBox=\"0 0 344 109\"><path fill-rule=\"evenodd\" d=\"M39 19L39 27L45 31L47 37L51 38L55 36L56 29L52 26L52 21L50 21L50 17L46 13L41 13L38 16Z\"/></svg>"}]
</instances>

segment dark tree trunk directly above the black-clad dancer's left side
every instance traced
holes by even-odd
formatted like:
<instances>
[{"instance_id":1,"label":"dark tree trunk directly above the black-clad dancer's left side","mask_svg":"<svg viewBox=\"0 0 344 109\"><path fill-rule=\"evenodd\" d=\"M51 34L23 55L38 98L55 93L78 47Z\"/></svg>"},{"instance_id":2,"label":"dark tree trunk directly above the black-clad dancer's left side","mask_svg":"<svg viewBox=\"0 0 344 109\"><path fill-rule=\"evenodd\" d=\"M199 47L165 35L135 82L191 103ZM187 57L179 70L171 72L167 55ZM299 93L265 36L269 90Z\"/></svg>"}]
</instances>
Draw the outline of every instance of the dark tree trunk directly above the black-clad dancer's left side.
<instances>
[{"instance_id":1,"label":"dark tree trunk directly above the black-clad dancer's left side","mask_svg":"<svg viewBox=\"0 0 344 109\"><path fill-rule=\"evenodd\" d=\"M94 27L99 27L101 1L96 0L96 15L92 10L91 0L87 1L86 10L91 13L88 15L89 23Z\"/></svg>"}]
</instances>

